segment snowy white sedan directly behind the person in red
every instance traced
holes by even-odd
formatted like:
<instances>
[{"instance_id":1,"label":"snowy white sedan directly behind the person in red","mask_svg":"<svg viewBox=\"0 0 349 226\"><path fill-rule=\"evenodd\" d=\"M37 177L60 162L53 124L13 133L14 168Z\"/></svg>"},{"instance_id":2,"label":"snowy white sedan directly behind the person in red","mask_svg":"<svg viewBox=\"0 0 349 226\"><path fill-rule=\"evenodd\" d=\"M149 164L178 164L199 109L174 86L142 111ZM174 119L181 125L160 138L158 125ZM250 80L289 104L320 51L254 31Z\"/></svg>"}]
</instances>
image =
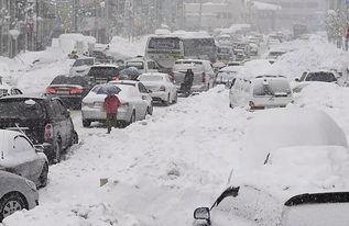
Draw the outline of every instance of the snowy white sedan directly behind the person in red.
<instances>
[{"instance_id":1,"label":"snowy white sedan directly behind the person in red","mask_svg":"<svg viewBox=\"0 0 349 226\"><path fill-rule=\"evenodd\" d=\"M107 92L103 92L103 86L97 84L84 98L81 114L84 127L90 126L91 122L106 122L107 114L103 109ZM135 121L144 120L149 109L148 101L143 100L142 93L133 86L114 84L121 91L117 94L121 103L123 103L118 111L117 121L124 125L134 123Z\"/></svg>"}]
</instances>

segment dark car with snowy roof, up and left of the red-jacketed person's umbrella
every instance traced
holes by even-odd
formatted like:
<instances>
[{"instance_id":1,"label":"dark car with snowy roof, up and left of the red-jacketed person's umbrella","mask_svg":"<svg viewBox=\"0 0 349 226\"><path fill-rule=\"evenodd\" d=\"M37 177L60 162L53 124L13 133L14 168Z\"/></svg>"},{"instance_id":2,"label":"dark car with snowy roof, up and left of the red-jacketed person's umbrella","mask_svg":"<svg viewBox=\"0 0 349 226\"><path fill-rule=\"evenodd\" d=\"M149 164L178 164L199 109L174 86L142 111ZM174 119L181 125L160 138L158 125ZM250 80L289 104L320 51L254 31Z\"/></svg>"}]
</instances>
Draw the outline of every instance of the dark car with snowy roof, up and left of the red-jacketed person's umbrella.
<instances>
[{"instance_id":1,"label":"dark car with snowy roof, up and left of the red-jacketed person's umbrella","mask_svg":"<svg viewBox=\"0 0 349 226\"><path fill-rule=\"evenodd\" d=\"M119 78L120 67L116 65L95 65L87 74L88 84L95 87L96 84L108 83L111 80Z\"/></svg>"}]
</instances>

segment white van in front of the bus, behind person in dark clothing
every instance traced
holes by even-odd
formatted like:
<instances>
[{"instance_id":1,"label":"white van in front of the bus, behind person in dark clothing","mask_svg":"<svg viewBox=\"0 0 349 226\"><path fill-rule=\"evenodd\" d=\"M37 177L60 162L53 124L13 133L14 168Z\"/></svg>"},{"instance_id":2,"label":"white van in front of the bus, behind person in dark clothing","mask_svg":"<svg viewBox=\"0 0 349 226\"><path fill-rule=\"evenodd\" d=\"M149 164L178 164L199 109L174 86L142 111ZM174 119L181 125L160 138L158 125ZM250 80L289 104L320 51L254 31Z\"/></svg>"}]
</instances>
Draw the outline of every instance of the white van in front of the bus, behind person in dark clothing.
<instances>
[{"instance_id":1,"label":"white van in front of the bus, behind person in dark clothing","mask_svg":"<svg viewBox=\"0 0 349 226\"><path fill-rule=\"evenodd\" d=\"M192 92L207 91L214 87L216 75L210 61L200 59L178 59L173 67L173 74L174 83L179 92L187 69L192 69L194 72Z\"/></svg>"}]
</instances>

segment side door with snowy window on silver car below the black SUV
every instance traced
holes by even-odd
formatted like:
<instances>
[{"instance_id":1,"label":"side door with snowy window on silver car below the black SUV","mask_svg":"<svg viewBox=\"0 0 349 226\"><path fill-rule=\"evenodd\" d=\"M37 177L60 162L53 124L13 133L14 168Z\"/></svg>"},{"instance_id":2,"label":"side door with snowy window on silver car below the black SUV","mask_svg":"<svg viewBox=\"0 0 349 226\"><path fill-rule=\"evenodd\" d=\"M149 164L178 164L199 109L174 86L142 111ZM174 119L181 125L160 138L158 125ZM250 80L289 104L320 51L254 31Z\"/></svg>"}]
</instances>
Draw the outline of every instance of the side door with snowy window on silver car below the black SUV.
<instances>
[{"instance_id":1,"label":"side door with snowy window on silver car below the black SUV","mask_svg":"<svg viewBox=\"0 0 349 226\"><path fill-rule=\"evenodd\" d=\"M37 180L44 162L37 157L33 145L25 136L14 136L10 158L14 158L17 161L12 169L14 173L32 181Z\"/></svg>"}]
</instances>

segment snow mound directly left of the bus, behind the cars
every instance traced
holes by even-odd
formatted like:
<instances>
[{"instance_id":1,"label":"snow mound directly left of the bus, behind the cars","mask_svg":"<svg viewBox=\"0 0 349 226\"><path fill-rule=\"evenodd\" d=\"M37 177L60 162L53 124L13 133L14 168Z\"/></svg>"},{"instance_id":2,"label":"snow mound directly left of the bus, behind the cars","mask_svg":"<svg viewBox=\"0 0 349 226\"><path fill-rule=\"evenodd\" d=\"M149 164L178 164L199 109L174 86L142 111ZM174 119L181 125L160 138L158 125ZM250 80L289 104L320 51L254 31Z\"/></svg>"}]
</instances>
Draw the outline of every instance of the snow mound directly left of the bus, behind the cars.
<instances>
[{"instance_id":1,"label":"snow mound directly left of the bus, behind the cars","mask_svg":"<svg viewBox=\"0 0 349 226\"><path fill-rule=\"evenodd\" d=\"M137 37L134 42L120 36L113 36L110 42L110 53L127 57L144 56L148 36Z\"/></svg>"}]
</instances>

